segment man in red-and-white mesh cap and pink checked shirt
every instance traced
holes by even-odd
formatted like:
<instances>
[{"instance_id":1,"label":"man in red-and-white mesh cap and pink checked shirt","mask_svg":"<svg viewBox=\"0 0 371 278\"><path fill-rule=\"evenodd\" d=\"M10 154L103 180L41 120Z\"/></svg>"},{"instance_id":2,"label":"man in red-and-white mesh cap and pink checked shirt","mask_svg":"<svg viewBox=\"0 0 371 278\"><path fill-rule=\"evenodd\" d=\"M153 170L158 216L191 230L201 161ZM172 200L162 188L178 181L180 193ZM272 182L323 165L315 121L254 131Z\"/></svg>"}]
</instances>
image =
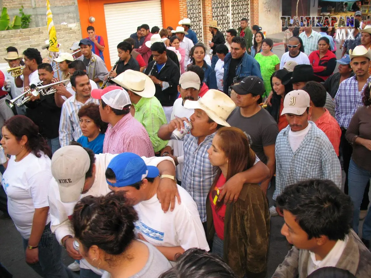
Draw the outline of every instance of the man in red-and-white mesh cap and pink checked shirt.
<instances>
[{"instance_id":1,"label":"man in red-and-white mesh cap and pink checked shirt","mask_svg":"<svg viewBox=\"0 0 371 278\"><path fill-rule=\"evenodd\" d=\"M104 153L132 152L139 156L155 156L147 130L130 113L128 92L118 86L92 90L99 100L99 113L108 129L103 142Z\"/></svg>"}]
</instances>

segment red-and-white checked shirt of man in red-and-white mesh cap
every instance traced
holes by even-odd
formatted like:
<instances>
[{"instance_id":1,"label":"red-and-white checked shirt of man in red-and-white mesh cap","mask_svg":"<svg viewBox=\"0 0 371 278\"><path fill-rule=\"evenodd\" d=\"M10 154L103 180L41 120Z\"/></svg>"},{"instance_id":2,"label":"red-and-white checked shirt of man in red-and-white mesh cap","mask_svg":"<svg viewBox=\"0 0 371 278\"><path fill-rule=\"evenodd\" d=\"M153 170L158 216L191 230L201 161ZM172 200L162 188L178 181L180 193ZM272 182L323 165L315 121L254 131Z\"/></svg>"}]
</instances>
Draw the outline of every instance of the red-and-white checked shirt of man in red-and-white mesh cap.
<instances>
[{"instance_id":1,"label":"red-and-white checked shirt of man in red-and-white mesh cap","mask_svg":"<svg viewBox=\"0 0 371 278\"><path fill-rule=\"evenodd\" d=\"M108 124L103 142L104 153L132 152L139 156L155 156L147 131L131 113L126 114L116 125Z\"/></svg>"}]
</instances>

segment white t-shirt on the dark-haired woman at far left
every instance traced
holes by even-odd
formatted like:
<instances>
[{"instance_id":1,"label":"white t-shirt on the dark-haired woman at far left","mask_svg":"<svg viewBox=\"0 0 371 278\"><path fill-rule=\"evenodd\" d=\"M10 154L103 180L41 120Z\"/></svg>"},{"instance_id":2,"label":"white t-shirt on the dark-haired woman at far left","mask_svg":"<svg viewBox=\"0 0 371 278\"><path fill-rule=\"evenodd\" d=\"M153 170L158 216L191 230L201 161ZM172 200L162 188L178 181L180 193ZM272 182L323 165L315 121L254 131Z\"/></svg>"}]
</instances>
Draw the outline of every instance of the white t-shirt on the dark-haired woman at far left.
<instances>
[{"instance_id":1,"label":"white t-shirt on the dark-haired woman at far left","mask_svg":"<svg viewBox=\"0 0 371 278\"><path fill-rule=\"evenodd\" d=\"M2 184L8 196L8 212L24 239L29 239L35 209L49 206L47 191L53 179L50 158L29 153L19 162L12 155L3 174ZM45 225L50 222L48 213Z\"/></svg>"}]
</instances>

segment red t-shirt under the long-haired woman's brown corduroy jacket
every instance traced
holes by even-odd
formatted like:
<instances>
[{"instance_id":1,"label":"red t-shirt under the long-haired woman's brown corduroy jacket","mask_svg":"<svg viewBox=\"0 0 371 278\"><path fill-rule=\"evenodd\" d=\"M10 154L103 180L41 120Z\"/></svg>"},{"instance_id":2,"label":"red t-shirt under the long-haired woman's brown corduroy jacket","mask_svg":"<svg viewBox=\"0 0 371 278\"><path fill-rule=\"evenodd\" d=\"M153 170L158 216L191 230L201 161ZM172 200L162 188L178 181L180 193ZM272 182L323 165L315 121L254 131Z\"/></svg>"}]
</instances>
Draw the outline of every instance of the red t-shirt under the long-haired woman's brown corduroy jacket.
<instances>
[{"instance_id":1,"label":"red t-shirt under the long-haired woman's brown corduroy jacket","mask_svg":"<svg viewBox=\"0 0 371 278\"><path fill-rule=\"evenodd\" d=\"M220 175L216 185L210 193L210 204L211 204L211 211L213 212L213 222L216 235L221 239L224 240L224 216L226 215L226 205L221 205L220 208L216 209L216 203L220 194L218 188L226 183L226 178L223 174Z\"/></svg>"}]
</instances>

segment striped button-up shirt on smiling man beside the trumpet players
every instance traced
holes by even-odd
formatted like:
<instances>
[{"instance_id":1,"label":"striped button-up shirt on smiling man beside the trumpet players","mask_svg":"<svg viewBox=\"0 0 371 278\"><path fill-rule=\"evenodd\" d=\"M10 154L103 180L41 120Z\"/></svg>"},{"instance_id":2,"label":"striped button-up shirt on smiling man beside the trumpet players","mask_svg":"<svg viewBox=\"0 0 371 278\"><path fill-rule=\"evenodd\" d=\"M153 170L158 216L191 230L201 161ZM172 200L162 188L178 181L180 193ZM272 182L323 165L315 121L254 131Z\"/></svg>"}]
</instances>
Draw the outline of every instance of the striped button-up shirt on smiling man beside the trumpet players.
<instances>
[{"instance_id":1,"label":"striped button-up shirt on smiling man beside the trumpet players","mask_svg":"<svg viewBox=\"0 0 371 278\"><path fill-rule=\"evenodd\" d=\"M77 113L81 106L88 103L99 104L98 99L90 97L85 103L76 100L76 95L69 97L62 105L59 121L59 143L61 147L68 146L72 140L77 141L82 136Z\"/></svg>"}]
</instances>

